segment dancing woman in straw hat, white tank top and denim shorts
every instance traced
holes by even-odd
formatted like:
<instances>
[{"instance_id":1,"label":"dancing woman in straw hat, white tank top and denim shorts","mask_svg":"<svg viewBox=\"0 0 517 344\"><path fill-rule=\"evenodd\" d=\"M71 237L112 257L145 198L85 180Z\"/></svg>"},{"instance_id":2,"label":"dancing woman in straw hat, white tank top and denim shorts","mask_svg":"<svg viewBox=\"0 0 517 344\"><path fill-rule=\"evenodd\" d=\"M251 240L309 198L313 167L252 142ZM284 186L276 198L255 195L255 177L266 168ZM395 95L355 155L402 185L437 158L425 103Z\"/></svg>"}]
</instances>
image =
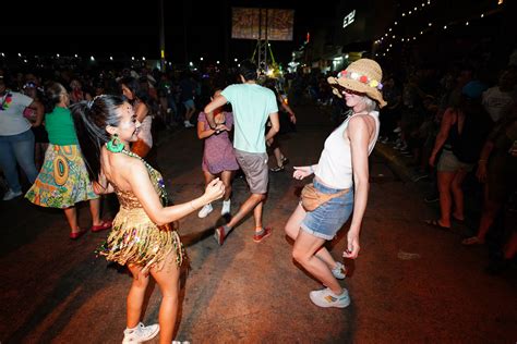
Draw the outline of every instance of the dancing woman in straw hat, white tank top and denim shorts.
<instances>
[{"instance_id":1,"label":"dancing woman in straw hat, white tank top and denim shorts","mask_svg":"<svg viewBox=\"0 0 517 344\"><path fill-rule=\"evenodd\" d=\"M382 75L375 61L361 59L337 77L328 78L334 94L345 97L352 114L327 137L317 164L294 167L294 179L314 174L316 195L332 197L312 211L300 202L286 224L287 235L294 239L292 257L326 286L310 293L311 300L320 307L344 308L350 304L347 290L336 280L345 278L345 267L334 260L324 244L334 238L353 210L348 248L342 256L358 257L368 201L368 157L378 136L377 109L386 105L381 94Z\"/></svg>"}]
</instances>

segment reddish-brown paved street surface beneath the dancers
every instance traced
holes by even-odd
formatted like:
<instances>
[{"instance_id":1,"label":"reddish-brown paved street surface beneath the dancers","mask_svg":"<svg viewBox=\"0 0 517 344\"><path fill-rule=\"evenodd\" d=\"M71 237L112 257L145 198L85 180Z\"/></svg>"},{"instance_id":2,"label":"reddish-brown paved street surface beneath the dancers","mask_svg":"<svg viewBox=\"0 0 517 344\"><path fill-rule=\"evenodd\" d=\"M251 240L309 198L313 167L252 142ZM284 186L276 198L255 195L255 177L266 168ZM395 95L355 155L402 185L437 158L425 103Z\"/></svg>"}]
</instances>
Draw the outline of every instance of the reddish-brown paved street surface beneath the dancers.
<instances>
[{"instance_id":1,"label":"reddish-brown paved street surface beneath the dancers","mask_svg":"<svg viewBox=\"0 0 517 344\"><path fill-rule=\"evenodd\" d=\"M317 108L297 109L299 132L281 144L291 164L316 162L332 131ZM201 143L181 130L161 140L160 170L177 202L203 192ZM362 251L344 285L352 304L321 309L308 294L318 288L290 257L282 233L302 182L292 172L270 174L265 223L274 234L261 244L249 219L223 247L212 238L220 202L206 219L181 221L190 255L183 274L178 340L192 343L515 343L517 278L483 272L484 247L460 245L462 231L431 229L435 217L419 184L400 181L385 159L372 157L372 185L363 222ZM233 206L247 197L235 181ZM107 217L116 202L105 201ZM19 198L0 204L0 341L2 343L120 343L125 294L131 279L123 269L96 258L106 233L70 242L61 211L41 209ZM87 208L81 224L89 225ZM348 226L345 226L347 229ZM330 243L342 253L341 235ZM145 322L157 320L159 291L148 299ZM152 341L151 343L157 343Z\"/></svg>"}]
</instances>

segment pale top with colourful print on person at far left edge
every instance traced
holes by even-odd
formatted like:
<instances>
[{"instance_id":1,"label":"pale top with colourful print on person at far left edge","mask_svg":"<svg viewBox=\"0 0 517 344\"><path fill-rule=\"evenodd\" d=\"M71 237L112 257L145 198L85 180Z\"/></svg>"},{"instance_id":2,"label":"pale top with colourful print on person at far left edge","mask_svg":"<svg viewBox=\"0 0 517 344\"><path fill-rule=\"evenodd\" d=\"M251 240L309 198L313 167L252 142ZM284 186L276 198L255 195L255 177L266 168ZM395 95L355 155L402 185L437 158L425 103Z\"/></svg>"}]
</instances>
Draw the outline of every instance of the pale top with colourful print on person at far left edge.
<instances>
[{"instance_id":1,"label":"pale top with colourful print on person at far left edge","mask_svg":"<svg viewBox=\"0 0 517 344\"><path fill-rule=\"evenodd\" d=\"M9 95L12 98L9 99ZM5 95L0 97L0 135L11 136L25 133L31 128L31 123L23 116L23 110L33 102L33 98L16 91L5 91Z\"/></svg>"}]
</instances>

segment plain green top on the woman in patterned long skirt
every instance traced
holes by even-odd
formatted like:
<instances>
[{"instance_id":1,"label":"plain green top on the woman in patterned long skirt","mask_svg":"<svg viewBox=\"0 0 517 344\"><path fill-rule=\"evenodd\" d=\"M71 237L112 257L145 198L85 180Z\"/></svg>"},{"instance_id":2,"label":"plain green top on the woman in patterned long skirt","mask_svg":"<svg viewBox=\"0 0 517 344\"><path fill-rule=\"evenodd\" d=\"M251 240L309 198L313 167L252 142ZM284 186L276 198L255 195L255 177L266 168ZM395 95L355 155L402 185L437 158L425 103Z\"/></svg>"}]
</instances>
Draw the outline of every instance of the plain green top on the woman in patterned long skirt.
<instances>
[{"instance_id":1,"label":"plain green top on the woman in patterned long skirt","mask_svg":"<svg viewBox=\"0 0 517 344\"><path fill-rule=\"evenodd\" d=\"M48 140L52 145L79 144L72 113L68 108L56 107L52 112L47 113L45 115L45 128L48 132Z\"/></svg>"}]
</instances>

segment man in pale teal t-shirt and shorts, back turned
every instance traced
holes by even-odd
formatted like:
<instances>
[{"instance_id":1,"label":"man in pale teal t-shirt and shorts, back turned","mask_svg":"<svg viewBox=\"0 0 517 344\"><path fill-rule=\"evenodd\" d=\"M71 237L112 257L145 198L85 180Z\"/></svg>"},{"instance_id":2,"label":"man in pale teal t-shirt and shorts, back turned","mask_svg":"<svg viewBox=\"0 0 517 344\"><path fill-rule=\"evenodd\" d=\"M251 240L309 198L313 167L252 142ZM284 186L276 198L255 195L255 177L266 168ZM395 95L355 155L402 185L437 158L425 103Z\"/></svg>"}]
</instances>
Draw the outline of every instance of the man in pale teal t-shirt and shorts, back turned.
<instances>
[{"instance_id":1,"label":"man in pale teal t-shirt and shorts, back turned","mask_svg":"<svg viewBox=\"0 0 517 344\"><path fill-rule=\"evenodd\" d=\"M251 210L255 219L255 234L253 241L260 243L272 233L270 228L262 225L262 208L267 194L268 168L266 140L278 133L278 107L275 94L256 84L256 65L251 61L243 61L239 67L242 84L226 87L220 96L205 107L208 124L213 130L224 130L223 124L216 124L213 111L227 102L231 103L235 119L233 147L239 165L244 172L250 186L251 196L242 204L239 211L226 225L215 231L215 238L223 245L228 233ZM265 134L267 120L272 127Z\"/></svg>"}]
</instances>

